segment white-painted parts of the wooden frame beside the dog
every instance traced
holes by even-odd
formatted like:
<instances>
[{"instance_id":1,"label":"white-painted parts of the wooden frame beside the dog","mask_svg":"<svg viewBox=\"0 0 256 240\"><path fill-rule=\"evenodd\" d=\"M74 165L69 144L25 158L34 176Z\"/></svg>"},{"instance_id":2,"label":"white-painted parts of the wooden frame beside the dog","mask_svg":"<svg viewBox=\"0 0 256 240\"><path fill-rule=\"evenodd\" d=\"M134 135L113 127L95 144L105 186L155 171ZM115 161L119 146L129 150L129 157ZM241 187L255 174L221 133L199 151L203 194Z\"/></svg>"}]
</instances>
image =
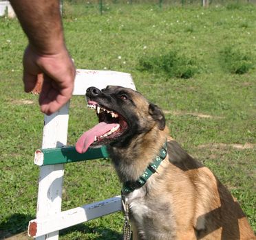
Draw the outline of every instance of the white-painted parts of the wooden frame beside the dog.
<instances>
[{"instance_id":1,"label":"white-painted parts of the wooden frame beside the dog","mask_svg":"<svg viewBox=\"0 0 256 240\"><path fill-rule=\"evenodd\" d=\"M107 85L136 89L129 73L78 69L73 95L85 95L89 86ZM45 115L42 148L62 147L67 143L68 102L54 114ZM30 221L28 235L36 240L57 240L58 230L121 210L120 196L61 212L64 165L40 167L36 219Z\"/></svg>"}]
</instances>

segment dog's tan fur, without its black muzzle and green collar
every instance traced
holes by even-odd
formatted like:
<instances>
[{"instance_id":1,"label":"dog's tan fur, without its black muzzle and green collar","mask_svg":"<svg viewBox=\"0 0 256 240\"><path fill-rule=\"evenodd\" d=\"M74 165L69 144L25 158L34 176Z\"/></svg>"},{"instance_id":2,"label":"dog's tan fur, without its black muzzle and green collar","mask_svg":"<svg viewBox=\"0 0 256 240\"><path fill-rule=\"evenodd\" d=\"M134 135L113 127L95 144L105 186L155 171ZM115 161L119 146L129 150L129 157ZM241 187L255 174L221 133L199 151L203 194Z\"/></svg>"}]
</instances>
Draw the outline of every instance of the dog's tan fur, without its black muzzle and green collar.
<instances>
[{"instance_id":1,"label":"dog's tan fur, without its black muzzle and green collar","mask_svg":"<svg viewBox=\"0 0 256 240\"><path fill-rule=\"evenodd\" d=\"M110 89L114 92L120 87ZM145 131L131 136L125 146L109 147L120 181L136 181L167 139L168 154L157 172L143 187L127 194L134 240L256 239L226 187L162 128L162 111L157 106L156 112L152 110L140 93L122 91L134 102L123 107L138 117Z\"/></svg>"}]
</instances>

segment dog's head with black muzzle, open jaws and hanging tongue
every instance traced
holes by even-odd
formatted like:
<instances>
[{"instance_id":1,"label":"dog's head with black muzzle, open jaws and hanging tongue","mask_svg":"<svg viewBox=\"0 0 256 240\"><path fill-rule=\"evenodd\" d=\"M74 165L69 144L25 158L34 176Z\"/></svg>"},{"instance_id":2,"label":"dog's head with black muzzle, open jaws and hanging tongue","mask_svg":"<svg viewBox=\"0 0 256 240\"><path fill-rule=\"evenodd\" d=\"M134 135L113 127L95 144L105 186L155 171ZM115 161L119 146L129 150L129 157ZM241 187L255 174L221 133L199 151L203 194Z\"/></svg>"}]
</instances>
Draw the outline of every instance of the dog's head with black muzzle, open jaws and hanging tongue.
<instances>
[{"instance_id":1,"label":"dog's head with black muzzle, open jaws and hanging tongue","mask_svg":"<svg viewBox=\"0 0 256 240\"><path fill-rule=\"evenodd\" d=\"M162 110L130 88L107 86L100 91L90 87L86 98L87 106L96 110L99 123L78 139L77 152L86 152L89 146L126 145L135 135L153 128L164 130Z\"/></svg>"}]
</instances>

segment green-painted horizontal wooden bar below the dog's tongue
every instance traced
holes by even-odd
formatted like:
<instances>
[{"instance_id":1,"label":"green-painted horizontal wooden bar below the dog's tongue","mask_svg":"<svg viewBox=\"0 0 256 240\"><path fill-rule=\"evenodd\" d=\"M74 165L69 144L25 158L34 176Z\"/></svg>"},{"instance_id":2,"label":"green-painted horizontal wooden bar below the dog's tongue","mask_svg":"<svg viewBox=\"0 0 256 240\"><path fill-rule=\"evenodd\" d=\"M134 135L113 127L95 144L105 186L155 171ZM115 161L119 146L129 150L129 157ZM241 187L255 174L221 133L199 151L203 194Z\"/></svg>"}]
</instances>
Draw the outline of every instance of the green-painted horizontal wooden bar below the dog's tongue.
<instances>
[{"instance_id":1,"label":"green-painted horizontal wooden bar below the dog's tongue","mask_svg":"<svg viewBox=\"0 0 256 240\"><path fill-rule=\"evenodd\" d=\"M43 153L43 165L74 163L81 160L108 158L109 156L105 146L89 148L84 154L76 152L74 146L41 149L41 152Z\"/></svg>"}]
</instances>

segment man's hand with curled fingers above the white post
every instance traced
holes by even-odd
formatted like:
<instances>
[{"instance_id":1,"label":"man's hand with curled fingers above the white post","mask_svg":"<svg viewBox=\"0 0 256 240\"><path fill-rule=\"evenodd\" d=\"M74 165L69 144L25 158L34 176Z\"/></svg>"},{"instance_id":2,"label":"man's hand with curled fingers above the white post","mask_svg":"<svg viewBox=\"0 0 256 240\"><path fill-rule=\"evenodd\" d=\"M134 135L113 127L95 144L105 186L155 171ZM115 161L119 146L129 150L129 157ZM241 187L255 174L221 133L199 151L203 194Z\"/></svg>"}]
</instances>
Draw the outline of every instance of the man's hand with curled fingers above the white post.
<instances>
[{"instance_id":1,"label":"man's hand with curled fingers above the white post","mask_svg":"<svg viewBox=\"0 0 256 240\"><path fill-rule=\"evenodd\" d=\"M50 115L72 97L76 71L67 49L62 47L57 53L41 54L28 45L23 56L25 92L32 91L41 73L44 81L39 105L42 112Z\"/></svg>"}]
</instances>

